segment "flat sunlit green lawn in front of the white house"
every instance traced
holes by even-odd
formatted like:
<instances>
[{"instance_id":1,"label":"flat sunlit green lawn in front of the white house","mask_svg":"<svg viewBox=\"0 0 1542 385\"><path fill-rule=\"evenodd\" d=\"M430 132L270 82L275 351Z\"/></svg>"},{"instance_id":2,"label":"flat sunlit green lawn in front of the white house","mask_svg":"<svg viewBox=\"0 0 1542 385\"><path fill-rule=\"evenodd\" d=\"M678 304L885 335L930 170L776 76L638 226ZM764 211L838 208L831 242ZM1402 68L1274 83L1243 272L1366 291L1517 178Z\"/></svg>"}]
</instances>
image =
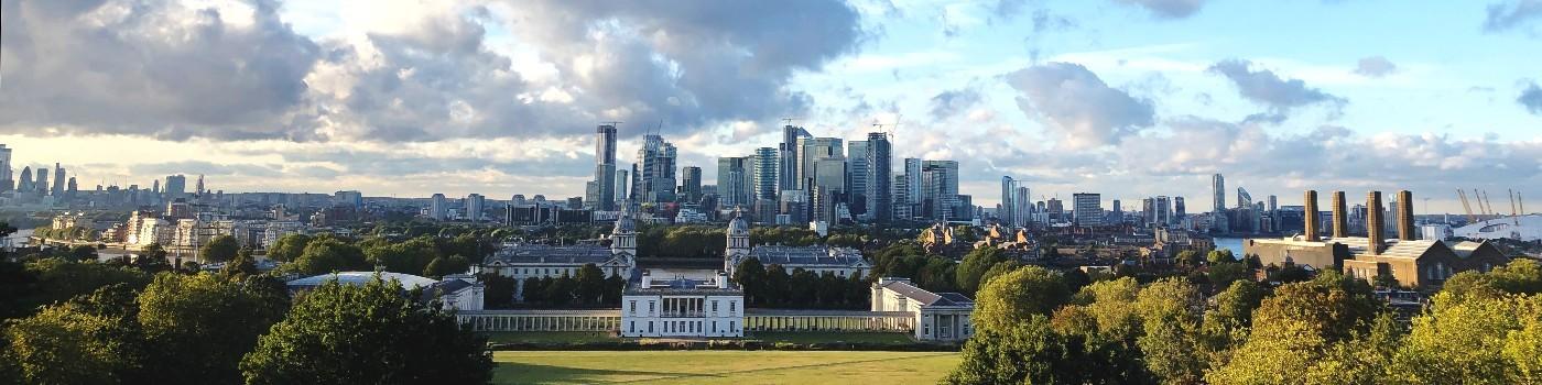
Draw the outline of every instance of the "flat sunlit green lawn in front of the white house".
<instances>
[{"instance_id":1,"label":"flat sunlit green lawn in front of the white house","mask_svg":"<svg viewBox=\"0 0 1542 385\"><path fill-rule=\"evenodd\" d=\"M497 351L493 383L936 383L958 353Z\"/></svg>"}]
</instances>

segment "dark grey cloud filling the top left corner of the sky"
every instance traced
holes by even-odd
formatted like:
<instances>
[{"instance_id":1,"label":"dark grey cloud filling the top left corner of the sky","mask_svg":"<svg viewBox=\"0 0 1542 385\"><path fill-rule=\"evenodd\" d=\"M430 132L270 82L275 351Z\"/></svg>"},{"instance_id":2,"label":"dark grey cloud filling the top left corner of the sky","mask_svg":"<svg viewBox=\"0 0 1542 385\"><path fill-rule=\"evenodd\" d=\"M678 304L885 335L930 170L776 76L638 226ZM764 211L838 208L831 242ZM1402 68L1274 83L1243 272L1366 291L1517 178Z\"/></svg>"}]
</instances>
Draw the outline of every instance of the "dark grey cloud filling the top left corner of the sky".
<instances>
[{"instance_id":1,"label":"dark grey cloud filling the top left corner of the sky","mask_svg":"<svg viewBox=\"0 0 1542 385\"><path fill-rule=\"evenodd\" d=\"M0 131L298 137L319 48L273 2L14 2Z\"/></svg>"}]
</instances>

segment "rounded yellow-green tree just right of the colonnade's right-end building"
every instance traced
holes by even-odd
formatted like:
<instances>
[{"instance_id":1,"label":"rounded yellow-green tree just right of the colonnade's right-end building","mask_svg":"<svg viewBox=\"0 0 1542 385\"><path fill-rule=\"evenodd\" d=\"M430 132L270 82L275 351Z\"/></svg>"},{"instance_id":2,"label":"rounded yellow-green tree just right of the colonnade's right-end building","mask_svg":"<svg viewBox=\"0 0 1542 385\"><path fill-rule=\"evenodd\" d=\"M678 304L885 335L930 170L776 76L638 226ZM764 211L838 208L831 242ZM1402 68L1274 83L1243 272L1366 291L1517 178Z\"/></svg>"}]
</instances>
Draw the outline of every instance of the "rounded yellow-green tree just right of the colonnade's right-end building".
<instances>
[{"instance_id":1,"label":"rounded yellow-green tree just right of the colonnade's right-end building","mask_svg":"<svg viewBox=\"0 0 1542 385\"><path fill-rule=\"evenodd\" d=\"M992 279L979 290L976 330L1005 331L1033 314L1049 314L1070 297L1064 279L1041 266L1024 266Z\"/></svg>"}]
</instances>

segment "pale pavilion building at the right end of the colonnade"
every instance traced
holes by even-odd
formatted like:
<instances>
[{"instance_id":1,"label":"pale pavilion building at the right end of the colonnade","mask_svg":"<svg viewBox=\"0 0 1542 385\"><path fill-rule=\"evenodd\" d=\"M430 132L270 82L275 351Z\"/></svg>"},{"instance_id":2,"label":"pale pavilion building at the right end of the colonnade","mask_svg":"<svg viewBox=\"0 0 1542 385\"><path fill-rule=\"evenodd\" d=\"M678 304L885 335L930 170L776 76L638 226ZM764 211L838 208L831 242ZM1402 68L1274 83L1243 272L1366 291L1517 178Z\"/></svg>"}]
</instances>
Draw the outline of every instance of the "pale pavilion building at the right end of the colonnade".
<instances>
[{"instance_id":1,"label":"pale pavilion building at the right end of the colonnade","mask_svg":"<svg viewBox=\"0 0 1542 385\"><path fill-rule=\"evenodd\" d=\"M910 279L882 277L873 283L873 311L904 311L914 317L917 340L965 340L975 334L975 300L959 293L931 293Z\"/></svg>"}]
</instances>

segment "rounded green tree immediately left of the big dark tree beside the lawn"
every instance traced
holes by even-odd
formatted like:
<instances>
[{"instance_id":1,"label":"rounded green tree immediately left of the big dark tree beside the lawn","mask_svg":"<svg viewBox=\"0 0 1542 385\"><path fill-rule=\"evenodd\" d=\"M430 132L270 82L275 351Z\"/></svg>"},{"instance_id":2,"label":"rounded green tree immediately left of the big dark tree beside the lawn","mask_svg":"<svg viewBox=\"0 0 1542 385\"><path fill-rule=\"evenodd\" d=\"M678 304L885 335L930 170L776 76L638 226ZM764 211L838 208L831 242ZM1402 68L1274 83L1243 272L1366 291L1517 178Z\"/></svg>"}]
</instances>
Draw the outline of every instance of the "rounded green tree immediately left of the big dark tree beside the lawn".
<instances>
[{"instance_id":1,"label":"rounded green tree immediately left of the big dark tree beside the lawn","mask_svg":"<svg viewBox=\"0 0 1542 385\"><path fill-rule=\"evenodd\" d=\"M162 273L139 294L146 374L159 383L241 383L236 365L284 317L282 290Z\"/></svg>"}]
</instances>

